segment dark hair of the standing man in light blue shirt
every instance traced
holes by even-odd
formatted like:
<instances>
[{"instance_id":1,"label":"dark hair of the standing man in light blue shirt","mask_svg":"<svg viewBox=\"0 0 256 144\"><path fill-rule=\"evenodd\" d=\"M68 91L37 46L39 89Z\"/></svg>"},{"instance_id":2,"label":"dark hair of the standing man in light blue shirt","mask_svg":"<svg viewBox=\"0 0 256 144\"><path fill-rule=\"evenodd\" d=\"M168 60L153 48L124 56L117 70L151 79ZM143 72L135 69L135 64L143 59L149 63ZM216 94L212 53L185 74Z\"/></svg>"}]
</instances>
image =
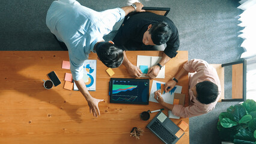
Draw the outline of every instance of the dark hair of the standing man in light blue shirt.
<instances>
[{"instance_id":1,"label":"dark hair of the standing man in light blue shirt","mask_svg":"<svg viewBox=\"0 0 256 144\"><path fill-rule=\"evenodd\" d=\"M119 67L124 60L123 50L119 49L112 43L99 42L95 47L96 53L107 67L116 68Z\"/></svg>"}]
</instances>

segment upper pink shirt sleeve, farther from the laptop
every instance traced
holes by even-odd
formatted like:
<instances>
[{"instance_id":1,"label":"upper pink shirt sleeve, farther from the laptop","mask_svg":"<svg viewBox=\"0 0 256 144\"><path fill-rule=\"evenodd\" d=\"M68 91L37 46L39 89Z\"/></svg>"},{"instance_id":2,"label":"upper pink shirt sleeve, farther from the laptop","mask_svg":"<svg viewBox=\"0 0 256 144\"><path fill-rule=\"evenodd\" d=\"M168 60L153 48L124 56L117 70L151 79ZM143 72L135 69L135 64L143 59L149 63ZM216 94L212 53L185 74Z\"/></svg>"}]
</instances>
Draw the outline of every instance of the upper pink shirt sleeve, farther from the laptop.
<instances>
[{"instance_id":1,"label":"upper pink shirt sleeve, farther from the laptop","mask_svg":"<svg viewBox=\"0 0 256 144\"><path fill-rule=\"evenodd\" d=\"M209 64L202 59L191 59L183 65L183 68L189 73L203 72L208 67Z\"/></svg>"}]
</instances>

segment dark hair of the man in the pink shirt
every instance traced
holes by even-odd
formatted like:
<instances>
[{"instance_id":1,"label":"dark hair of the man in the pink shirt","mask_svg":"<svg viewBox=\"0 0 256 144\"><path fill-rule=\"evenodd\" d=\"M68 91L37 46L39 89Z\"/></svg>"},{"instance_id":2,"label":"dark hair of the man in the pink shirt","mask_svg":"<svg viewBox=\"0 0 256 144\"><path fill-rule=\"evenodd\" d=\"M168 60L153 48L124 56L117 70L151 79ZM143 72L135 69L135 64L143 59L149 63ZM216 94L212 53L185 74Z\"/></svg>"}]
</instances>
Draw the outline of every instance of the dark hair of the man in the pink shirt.
<instances>
[{"instance_id":1,"label":"dark hair of the man in the pink shirt","mask_svg":"<svg viewBox=\"0 0 256 144\"><path fill-rule=\"evenodd\" d=\"M204 81L197 83L196 85L197 89L197 99L200 101L200 103L203 104L209 104L216 101L216 98L219 95L218 86L209 81Z\"/></svg>"}]
</instances>

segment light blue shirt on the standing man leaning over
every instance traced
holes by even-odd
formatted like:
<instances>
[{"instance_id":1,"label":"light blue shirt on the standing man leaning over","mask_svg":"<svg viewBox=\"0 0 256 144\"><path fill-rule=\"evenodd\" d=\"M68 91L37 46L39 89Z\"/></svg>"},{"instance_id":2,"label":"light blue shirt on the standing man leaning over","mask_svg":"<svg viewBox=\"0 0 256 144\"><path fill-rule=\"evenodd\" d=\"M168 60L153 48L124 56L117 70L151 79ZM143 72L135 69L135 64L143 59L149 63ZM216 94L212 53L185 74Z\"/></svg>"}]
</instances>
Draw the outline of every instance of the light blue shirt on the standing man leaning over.
<instances>
[{"instance_id":1,"label":"light blue shirt on the standing man leaning over","mask_svg":"<svg viewBox=\"0 0 256 144\"><path fill-rule=\"evenodd\" d=\"M102 41L103 36L109 34L124 16L121 8L97 12L75 0L52 2L47 11L46 25L69 49L74 80L81 80L84 76L84 61L90 52L94 52L94 45Z\"/></svg>"}]
</instances>

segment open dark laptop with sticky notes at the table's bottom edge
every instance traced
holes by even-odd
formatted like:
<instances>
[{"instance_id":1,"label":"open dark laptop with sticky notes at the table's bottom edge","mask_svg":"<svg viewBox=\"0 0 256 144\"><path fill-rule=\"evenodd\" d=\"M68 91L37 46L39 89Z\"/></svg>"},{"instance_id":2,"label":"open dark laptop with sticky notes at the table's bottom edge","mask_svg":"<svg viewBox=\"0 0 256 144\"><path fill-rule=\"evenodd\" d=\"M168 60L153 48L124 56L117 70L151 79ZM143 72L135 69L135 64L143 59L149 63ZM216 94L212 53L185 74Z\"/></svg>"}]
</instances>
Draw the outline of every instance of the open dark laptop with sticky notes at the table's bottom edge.
<instances>
[{"instance_id":1,"label":"open dark laptop with sticky notes at the table's bottom edge","mask_svg":"<svg viewBox=\"0 0 256 144\"><path fill-rule=\"evenodd\" d=\"M164 113L159 112L147 125L160 140L164 143L172 144L178 142L184 131L171 121Z\"/></svg>"}]
</instances>

